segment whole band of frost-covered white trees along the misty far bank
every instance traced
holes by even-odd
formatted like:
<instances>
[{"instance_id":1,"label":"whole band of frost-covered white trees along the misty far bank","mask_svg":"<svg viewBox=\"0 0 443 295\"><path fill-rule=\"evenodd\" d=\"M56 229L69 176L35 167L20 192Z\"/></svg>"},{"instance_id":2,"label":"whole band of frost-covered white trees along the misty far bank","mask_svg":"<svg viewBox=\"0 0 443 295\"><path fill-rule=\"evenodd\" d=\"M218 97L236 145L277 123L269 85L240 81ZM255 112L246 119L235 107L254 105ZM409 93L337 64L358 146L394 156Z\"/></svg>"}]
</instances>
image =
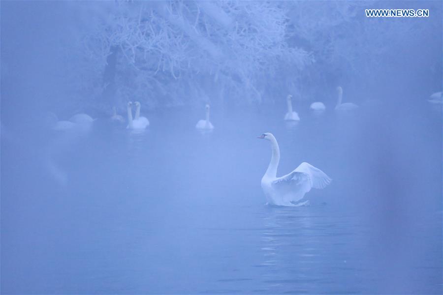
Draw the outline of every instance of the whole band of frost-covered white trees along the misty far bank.
<instances>
[{"instance_id":1,"label":"whole band of frost-covered white trees along the misty far bank","mask_svg":"<svg viewBox=\"0 0 443 295\"><path fill-rule=\"evenodd\" d=\"M71 81L79 97L108 109L127 100L149 107L272 102L287 93L309 100L361 81L356 89L375 88L380 72L397 66L396 48L408 35L419 43L433 31L430 22L364 15L388 2L67 3L83 16Z\"/></svg>"}]
</instances>

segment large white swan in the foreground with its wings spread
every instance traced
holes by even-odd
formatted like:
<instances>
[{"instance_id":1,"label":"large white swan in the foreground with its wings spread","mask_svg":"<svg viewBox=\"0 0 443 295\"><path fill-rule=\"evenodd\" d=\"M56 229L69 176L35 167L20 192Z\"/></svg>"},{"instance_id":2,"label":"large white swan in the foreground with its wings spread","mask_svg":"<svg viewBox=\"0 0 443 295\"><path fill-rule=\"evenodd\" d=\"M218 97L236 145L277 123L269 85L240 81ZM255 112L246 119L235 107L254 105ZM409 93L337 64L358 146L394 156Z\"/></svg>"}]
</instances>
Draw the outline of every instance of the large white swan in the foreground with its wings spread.
<instances>
[{"instance_id":1,"label":"large white swan in the foreground with its wings spread","mask_svg":"<svg viewBox=\"0 0 443 295\"><path fill-rule=\"evenodd\" d=\"M268 204L277 206L302 206L309 201L300 202L311 188L324 188L331 183L323 171L309 163L301 163L294 171L277 177L280 161L280 148L272 133L263 133L258 138L271 142L272 157L265 175L261 178L261 188Z\"/></svg>"}]
</instances>

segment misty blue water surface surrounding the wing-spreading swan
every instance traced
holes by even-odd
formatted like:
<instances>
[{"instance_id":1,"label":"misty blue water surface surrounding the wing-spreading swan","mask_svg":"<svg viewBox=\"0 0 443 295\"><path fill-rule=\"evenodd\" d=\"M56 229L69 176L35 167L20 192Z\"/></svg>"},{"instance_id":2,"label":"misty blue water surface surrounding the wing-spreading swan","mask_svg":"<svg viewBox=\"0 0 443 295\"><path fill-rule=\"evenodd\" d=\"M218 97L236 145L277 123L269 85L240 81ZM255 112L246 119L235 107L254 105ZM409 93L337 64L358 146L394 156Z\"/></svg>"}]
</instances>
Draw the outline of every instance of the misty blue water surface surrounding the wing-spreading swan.
<instances>
[{"instance_id":1,"label":"misty blue water surface surrounding the wing-spreading swan","mask_svg":"<svg viewBox=\"0 0 443 295\"><path fill-rule=\"evenodd\" d=\"M5 124L1 292L441 294L441 112L417 105L294 126L214 107L210 134L190 109L147 113L142 133ZM307 161L333 178L311 206L264 205L263 132L278 175Z\"/></svg>"}]
</instances>

